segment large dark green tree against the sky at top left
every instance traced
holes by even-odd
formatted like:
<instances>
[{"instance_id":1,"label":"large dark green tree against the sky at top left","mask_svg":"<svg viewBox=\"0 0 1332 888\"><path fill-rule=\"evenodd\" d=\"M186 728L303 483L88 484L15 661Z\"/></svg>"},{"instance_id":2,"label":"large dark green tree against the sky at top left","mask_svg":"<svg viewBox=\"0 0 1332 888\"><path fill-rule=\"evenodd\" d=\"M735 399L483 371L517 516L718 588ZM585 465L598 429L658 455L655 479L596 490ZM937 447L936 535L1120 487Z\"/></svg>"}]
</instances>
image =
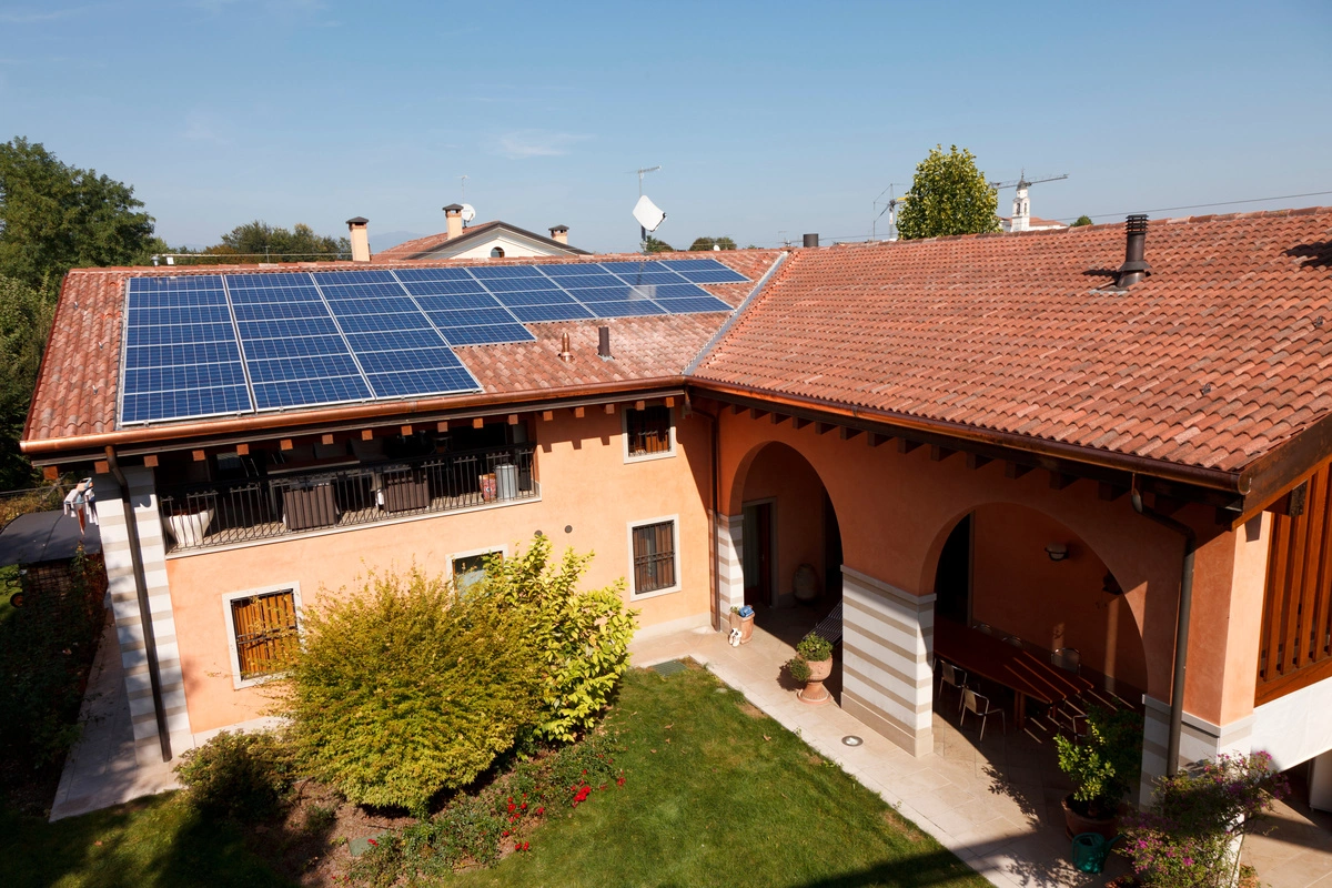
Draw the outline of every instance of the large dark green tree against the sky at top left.
<instances>
[{"instance_id":1,"label":"large dark green tree against the sky at top left","mask_svg":"<svg viewBox=\"0 0 1332 888\"><path fill-rule=\"evenodd\" d=\"M141 262L153 234L143 205L133 188L40 142L0 144L0 274L55 290L72 268Z\"/></svg>"}]
</instances>

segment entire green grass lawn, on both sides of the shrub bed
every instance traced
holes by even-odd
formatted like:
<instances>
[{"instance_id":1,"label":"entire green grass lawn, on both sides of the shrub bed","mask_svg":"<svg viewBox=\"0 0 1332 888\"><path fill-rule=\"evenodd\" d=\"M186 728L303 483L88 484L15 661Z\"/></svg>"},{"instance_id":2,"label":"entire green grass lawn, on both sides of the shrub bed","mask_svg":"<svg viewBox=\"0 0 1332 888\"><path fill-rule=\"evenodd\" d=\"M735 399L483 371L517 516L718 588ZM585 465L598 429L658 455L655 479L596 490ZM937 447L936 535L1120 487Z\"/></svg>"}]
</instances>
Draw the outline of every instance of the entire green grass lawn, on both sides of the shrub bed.
<instances>
[{"instance_id":1,"label":"entire green grass lawn, on both sides of the shrub bed","mask_svg":"<svg viewBox=\"0 0 1332 888\"><path fill-rule=\"evenodd\" d=\"M606 727L623 788L550 808L523 836L530 851L446 884L988 884L703 670L631 671ZM286 884L238 828L201 823L176 796L56 824L0 813L0 861L7 888Z\"/></svg>"}]
</instances>

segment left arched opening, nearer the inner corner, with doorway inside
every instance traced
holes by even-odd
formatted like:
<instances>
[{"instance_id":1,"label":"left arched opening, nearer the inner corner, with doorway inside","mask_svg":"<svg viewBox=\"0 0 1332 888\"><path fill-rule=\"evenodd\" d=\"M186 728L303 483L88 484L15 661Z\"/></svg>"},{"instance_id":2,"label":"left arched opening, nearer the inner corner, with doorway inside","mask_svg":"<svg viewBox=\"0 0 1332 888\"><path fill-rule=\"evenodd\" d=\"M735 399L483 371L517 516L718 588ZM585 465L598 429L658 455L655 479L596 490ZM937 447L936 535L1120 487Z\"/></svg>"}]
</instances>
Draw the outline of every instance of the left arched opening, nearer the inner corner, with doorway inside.
<instances>
[{"instance_id":1,"label":"left arched opening, nearer the inner corner, with doorway inside","mask_svg":"<svg viewBox=\"0 0 1332 888\"><path fill-rule=\"evenodd\" d=\"M759 626L798 640L842 600L842 533L832 501L805 457L769 443L745 474L741 514L745 603Z\"/></svg>"}]
</instances>

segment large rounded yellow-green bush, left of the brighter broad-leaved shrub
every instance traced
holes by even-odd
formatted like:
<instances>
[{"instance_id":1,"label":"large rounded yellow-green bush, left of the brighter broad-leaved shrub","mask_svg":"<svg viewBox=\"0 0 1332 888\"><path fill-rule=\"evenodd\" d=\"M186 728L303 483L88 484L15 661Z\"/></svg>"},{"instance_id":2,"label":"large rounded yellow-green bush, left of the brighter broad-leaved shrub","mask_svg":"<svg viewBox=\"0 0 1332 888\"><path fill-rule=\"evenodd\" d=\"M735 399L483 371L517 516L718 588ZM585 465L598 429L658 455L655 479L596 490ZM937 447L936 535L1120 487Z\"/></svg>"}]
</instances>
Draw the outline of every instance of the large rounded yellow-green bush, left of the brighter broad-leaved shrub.
<instances>
[{"instance_id":1,"label":"large rounded yellow-green bush, left of the brighter broad-leaved shrub","mask_svg":"<svg viewBox=\"0 0 1332 888\"><path fill-rule=\"evenodd\" d=\"M310 776L358 804L425 811L541 720L538 632L473 586L372 574L306 614L292 739Z\"/></svg>"}]
</instances>

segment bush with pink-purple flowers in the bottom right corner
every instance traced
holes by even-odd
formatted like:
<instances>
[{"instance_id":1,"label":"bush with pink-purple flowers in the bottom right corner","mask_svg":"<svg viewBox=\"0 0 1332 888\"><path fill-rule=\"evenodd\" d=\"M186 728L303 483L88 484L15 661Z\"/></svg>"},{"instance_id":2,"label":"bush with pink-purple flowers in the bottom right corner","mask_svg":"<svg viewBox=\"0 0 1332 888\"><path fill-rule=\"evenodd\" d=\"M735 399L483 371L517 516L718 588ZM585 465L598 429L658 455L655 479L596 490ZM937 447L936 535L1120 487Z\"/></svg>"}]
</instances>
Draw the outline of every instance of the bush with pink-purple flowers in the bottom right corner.
<instances>
[{"instance_id":1,"label":"bush with pink-purple flowers in the bottom right corner","mask_svg":"<svg viewBox=\"0 0 1332 888\"><path fill-rule=\"evenodd\" d=\"M1152 807L1124 829L1123 853L1148 888L1231 885L1240 873L1235 840L1287 791L1267 752L1220 755L1177 771L1156 781Z\"/></svg>"}]
</instances>

